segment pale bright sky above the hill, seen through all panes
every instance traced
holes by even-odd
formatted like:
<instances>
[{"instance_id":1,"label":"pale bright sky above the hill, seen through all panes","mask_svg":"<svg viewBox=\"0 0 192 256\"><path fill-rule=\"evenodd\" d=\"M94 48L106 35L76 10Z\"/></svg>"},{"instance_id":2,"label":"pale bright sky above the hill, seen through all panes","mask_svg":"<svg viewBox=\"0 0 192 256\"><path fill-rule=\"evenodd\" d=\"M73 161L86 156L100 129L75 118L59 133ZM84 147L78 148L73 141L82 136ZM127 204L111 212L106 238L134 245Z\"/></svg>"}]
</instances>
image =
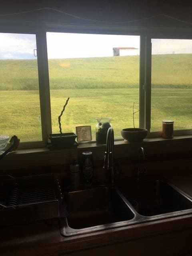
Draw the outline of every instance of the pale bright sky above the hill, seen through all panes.
<instances>
[{"instance_id":1,"label":"pale bright sky above the hill, seen through all panes","mask_svg":"<svg viewBox=\"0 0 192 256\"><path fill-rule=\"evenodd\" d=\"M114 47L135 47L139 36L47 33L48 58L113 56ZM36 36L0 33L0 59L36 59ZM192 40L152 39L152 54L192 53Z\"/></svg>"}]
</instances>

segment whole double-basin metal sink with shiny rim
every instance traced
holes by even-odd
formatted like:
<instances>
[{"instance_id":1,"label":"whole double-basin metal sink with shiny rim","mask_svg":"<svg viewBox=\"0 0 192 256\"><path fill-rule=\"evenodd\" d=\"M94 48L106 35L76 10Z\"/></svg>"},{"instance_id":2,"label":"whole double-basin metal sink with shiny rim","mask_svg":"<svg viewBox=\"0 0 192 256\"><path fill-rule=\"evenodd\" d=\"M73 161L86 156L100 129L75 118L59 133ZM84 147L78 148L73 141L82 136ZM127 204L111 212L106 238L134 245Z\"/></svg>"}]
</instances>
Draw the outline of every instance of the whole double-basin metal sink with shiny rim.
<instances>
[{"instance_id":1,"label":"whole double-basin metal sink with shiny rim","mask_svg":"<svg viewBox=\"0 0 192 256\"><path fill-rule=\"evenodd\" d=\"M192 213L192 198L163 179L67 192L64 204L64 236Z\"/></svg>"}]
</instances>

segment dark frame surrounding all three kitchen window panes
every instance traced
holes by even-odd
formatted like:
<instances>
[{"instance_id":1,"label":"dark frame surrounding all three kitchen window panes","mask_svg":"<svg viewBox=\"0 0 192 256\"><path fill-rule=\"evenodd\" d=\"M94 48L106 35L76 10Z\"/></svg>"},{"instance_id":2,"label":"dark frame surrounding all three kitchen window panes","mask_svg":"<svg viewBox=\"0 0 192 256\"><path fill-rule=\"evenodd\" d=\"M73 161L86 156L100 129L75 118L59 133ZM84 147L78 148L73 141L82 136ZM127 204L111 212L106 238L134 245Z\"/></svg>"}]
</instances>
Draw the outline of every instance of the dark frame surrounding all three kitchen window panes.
<instances>
[{"instance_id":1,"label":"dark frame surrounding all three kitchen window panes","mask_svg":"<svg viewBox=\"0 0 192 256\"><path fill-rule=\"evenodd\" d=\"M70 24L34 24L7 22L0 24L0 33L35 34L37 46L38 78L42 141L21 142L19 149L40 148L47 145L48 134L52 133L48 56L46 47L47 32L116 34L140 36L140 77L139 77L139 126L148 129L147 138L161 136L161 131L150 132L151 117L151 39L192 39L191 28L146 28L128 26L96 26ZM192 129L175 130L174 135L192 135ZM123 138L115 138L123 140ZM92 141L94 142L94 141ZM89 143L92 143L89 142ZM84 142L82 142L84 144Z\"/></svg>"}]
</instances>

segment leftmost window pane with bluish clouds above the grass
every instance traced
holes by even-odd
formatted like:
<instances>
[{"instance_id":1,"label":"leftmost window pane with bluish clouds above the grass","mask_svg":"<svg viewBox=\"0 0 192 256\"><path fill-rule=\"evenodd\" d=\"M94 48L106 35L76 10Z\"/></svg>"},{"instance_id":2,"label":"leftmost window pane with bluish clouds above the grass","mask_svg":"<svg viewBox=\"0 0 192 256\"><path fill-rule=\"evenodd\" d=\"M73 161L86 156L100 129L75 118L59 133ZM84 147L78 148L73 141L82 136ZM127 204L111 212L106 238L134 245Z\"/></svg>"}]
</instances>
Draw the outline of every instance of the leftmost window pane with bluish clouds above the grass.
<instances>
[{"instance_id":1,"label":"leftmost window pane with bluish clouds above the grass","mask_svg":"<svg viewBox=\"0 0 192 256\"><path fill-rule=\"evenodd\" d=\"M0 33L0 134L42 140L36 35Z\"/></svg>"}]
</instances>

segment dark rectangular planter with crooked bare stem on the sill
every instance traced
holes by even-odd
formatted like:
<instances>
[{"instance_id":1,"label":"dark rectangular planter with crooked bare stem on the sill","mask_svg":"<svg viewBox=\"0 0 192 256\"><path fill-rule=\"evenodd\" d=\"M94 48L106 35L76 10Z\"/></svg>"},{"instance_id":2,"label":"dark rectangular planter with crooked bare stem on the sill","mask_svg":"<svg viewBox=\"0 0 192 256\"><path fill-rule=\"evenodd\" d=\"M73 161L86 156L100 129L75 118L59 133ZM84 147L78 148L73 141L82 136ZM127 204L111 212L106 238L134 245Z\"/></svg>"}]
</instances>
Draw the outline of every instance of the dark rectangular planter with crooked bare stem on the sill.
<instances>
[{"instance_id":1,"label":"dark rectangular planter with crooked bare stem on the sill","mask_svg":"<svg viewBox=\"0 0 192 256\"><path fill-rule=\"evenodd\" d=\"M66 100L66 103L63 106L61 114L58 116L60 133L49 134L49 139L51 141L52 146L54 146L54 148L67 148L70 146L78 145L77 143L75 143L75 139L77 135L74 132L62 133L62 128L61 128L61 117L68 104L69 99L70 98L68 97L68 99Z\"/></svg>"}]
</instances>

